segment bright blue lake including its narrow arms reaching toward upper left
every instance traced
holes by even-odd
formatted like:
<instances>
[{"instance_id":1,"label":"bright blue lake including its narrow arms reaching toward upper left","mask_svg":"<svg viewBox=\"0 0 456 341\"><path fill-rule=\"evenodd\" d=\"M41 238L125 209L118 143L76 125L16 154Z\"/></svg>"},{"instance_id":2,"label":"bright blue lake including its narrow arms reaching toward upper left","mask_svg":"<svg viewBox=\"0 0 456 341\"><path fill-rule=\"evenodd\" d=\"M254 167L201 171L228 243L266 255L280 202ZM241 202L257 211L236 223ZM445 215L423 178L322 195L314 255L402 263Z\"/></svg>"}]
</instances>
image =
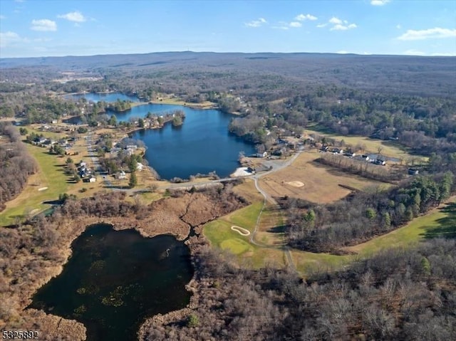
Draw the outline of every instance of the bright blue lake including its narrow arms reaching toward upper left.
<instances>
[{"instance_id":1,"label":"bright blue lake including its narrow arms reaching toward upper left","mask_svg":"<svg viewBox=\"0 0 456 341\"><path fill-rule=\"evenodd\" d=\"M138 98L121 93L109 95L112 102L117 98L138 102ZM106 94L90 93L85 97L94 102L106 100ZM219 110L145 104L124 113L117 113L116 117L120 121L125 121L130 120L130 117L145 117L147 112L160 113L172 110L184 110L185 120L181 127L175 128L167 124L160 130L140 130L133 134L133 138L145 142L145 158L163 179L187 179L190 175L213 171L219 177L227 177L239 167L239 152L247 155L255 152L254 145L228 132L228 125L233 116Z\"/></svg>"}]
</instances>

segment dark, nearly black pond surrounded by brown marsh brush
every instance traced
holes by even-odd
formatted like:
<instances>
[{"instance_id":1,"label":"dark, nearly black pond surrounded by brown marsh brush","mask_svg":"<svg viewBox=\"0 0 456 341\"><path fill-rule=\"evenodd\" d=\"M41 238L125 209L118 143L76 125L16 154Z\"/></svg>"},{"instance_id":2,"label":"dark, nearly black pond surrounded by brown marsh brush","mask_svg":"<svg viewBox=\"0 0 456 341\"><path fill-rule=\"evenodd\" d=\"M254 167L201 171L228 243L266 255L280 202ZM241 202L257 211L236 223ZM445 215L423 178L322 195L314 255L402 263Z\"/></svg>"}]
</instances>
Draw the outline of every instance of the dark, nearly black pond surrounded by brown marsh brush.
<instances>
[{"instance_id":1,"label":"dark, nearly black pond surrounded by brown marsh brush","mask_svg":"<svg viewBox=\"0 0 456 341\"><path fill-rule=\"evenodd\" d=\"M71 248L62 273L38 290L29 308L82 322L87 340L137 340L145 318L190 301L190 250L173 236L143 238L98 224Z\"/></svg>"}]
</instances>

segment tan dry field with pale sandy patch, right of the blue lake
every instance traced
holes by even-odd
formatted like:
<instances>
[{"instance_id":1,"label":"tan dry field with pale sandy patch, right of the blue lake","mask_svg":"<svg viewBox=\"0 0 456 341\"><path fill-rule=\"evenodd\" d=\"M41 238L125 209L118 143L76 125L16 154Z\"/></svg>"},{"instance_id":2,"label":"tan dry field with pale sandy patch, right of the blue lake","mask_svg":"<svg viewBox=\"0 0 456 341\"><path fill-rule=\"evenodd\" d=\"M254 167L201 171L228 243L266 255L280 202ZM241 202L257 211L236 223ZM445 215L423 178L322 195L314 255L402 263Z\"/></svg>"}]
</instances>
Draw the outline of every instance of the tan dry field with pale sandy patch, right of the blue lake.
<instances>
[{"instance_id":1,"label":"tan dry field with pale sandy patch, right of the blue lake","mask_svg":"<svg viewBox=\"0 0 456 341\"><path fill-rule=\"evenodd\" d=\"M289 167L261 177L259 184L271 196L290 196L318 203L347 196L351 191L344 187L361 190L372 185L387 186L318 164L314 162L318 157L316 151L301 153Z\"/></svg>"}]
</instances>

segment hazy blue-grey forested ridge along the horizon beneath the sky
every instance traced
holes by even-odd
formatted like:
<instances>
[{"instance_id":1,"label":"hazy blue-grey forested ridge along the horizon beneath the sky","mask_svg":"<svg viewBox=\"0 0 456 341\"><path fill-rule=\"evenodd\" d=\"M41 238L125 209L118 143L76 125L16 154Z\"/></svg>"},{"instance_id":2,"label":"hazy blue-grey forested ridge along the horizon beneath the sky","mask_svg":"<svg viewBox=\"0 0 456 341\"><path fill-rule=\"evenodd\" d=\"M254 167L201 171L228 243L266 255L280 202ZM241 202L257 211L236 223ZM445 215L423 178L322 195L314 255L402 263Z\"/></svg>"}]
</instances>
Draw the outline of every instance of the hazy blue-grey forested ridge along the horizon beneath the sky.
<instances>
[{"instance_id":1,"label":"hazy blue-grey forested ridge along the horizon beneath the sky","mask_svg":"<svg viewBox=\"0 0 456 341\"><path fill-rule=\"evenodd\" d=\"M456 57L383 56L337 53L214 53L160 52L98 56L0 58L1 77L14 69L44 68L157 78L287 78L308 85L345 86L389 93L452 95L456 93ZM31 72L31 71L30 71ZM32 72L31 72L32 73Z\"/></svg>"}]
</instances>

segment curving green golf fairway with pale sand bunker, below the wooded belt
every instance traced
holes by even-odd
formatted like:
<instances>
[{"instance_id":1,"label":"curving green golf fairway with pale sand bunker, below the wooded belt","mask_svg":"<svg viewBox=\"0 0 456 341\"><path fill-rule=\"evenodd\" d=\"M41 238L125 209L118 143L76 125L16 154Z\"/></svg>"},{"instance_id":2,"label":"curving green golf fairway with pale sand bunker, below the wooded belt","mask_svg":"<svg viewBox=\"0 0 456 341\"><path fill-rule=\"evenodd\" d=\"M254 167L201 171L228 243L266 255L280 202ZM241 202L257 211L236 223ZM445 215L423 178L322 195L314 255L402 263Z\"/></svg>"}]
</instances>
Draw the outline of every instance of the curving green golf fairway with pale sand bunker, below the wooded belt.
<instances>
[{"instance_id":1,"label":"curving green golf fairway with pale sand bunker, below the wooded belt","mask_svg":"<svg viewBox=\"0 0 456 341\"><path fill-rule=\"evenodd\" d=\"M249 243L249 236L241 236L232 231L232 225L238 225L253 231L257 221L257 214L262 203L252 204L238 211L211 221L204 226L204 236L215 248L227 250L237 256L240 265L247 264L254 268L261 268L267 263L277 267L284 266L286 259L281 248L261 248ZM265 211L264 213L267 213ZM322 270L331 271L348 266L353 261L374 256L388 248L408 248L426 238L443 236L456 238L456 200L430 214L413 219L400 229L379 236L356 246L346 248L352 254L345 256L328 253L311 253L292 250L291 256L297 270L302 274Z\"/></svg>"}]
</instances>

